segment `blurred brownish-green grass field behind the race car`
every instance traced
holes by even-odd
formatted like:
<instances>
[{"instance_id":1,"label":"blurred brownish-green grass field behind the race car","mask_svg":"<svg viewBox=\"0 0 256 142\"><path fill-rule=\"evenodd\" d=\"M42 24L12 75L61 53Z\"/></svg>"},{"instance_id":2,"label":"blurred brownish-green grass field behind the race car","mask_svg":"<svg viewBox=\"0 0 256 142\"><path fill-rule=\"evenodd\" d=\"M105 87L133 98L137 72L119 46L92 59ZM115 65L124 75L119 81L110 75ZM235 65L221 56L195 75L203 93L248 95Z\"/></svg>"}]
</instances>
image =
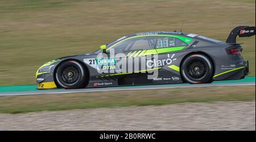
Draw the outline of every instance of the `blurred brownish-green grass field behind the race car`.
<instances>
[{"instance_id":1,"label":"blurred brownish-green grass field behind the race car","mask_svg":"<svg viewBox=\"0 0 256 142\"><path fill-rule=\"evenodd\" d=\"M255 25L255 1L0 1L0 85L35 84L38 67L52 59L181 23L184 32L225 41L237 25ZM238 41L255 76L255 37Z\"/></svg>"}]
</instances>

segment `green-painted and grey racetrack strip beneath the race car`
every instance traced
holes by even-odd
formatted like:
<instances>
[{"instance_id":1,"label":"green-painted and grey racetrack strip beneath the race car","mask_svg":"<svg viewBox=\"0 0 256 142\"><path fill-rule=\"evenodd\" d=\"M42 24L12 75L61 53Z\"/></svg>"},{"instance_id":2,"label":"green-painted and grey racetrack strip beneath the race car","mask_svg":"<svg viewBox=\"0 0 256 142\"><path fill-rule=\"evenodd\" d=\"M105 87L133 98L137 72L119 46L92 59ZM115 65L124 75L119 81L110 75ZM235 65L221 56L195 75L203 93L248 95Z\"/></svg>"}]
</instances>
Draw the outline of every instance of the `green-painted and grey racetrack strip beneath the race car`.
<instances>
[{"instance_id":1,"label":"green-painted and grey racetrack strip beneath the race car","mask_svg":"<svg viewBox=\"0 0 256 142\"><path fill-rule=\"evenodd\" d=\"M137 85L124 87L102 87L85 89L46 89L38 90L37 85L22 86L2 86L0 87L0 96L18 96L30 94L62 94L62 93L82 93L82 92L100 92L100 91L131 91L146 89L168 89L168 88L193 88L193 87L218 87L218 86L242 86L255 85L255 77L247 77L242 80L214 81L210 84L159 84L159 85Z\"/></svg>"}]
</instances>

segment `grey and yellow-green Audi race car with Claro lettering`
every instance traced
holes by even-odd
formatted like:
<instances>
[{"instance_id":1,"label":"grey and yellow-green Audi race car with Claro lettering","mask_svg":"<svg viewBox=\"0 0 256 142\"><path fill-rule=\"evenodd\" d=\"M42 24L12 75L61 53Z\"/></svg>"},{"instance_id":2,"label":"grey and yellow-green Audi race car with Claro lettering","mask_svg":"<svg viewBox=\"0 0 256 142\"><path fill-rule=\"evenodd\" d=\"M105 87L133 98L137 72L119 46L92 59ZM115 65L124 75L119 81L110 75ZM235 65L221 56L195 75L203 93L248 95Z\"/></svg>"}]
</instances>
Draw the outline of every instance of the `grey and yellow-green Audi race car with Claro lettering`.
<instances>
[{"instance_id":1,"label":"grey and yellow-green Audi race car with Claro lettering","mask_svg":"<svg viewBox=\"0 0 256 142\"><path fill-rule=\"evenodd\" d=\"M249 62L236 38L253 35L254 26L234 28L226 42L176 31L137 33L94 53L47 62L36 72L36 81L38 89L77 89L243 79Z\"/></svg>"}]
</instances>

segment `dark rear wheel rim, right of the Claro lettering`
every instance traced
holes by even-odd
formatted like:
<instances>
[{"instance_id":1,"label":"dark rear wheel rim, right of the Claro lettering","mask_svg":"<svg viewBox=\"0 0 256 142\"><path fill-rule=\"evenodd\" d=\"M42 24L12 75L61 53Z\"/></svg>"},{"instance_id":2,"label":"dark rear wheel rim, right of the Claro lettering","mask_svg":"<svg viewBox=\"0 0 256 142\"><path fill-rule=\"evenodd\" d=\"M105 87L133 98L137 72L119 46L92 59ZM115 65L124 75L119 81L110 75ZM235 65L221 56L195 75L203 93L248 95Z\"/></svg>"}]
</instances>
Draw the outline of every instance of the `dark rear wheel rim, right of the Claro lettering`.
<instances>
[{"instance_id":1,"label":"dark rear wheel rim, right of the Claro lettering","mask_svg":"<svg viewBox=\"0 0 256 142\"><path fill-rule=\"evenodd\" d=\"M203 79L209 71L207 63L201 59L192 59L189 61L187 66L188 77L192 80L201 80Z\"/></svg>"}]
</instances>

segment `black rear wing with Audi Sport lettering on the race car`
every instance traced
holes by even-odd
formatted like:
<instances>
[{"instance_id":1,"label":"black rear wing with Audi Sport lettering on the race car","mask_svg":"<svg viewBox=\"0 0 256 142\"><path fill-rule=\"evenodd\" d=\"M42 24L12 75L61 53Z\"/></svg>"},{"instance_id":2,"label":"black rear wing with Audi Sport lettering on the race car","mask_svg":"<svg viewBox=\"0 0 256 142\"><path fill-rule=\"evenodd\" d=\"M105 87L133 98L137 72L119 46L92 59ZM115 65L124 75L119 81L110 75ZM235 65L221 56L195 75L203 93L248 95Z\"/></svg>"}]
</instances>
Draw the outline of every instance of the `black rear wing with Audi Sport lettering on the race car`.
<instances>
[{"instance_id":1,"label":"black rear wing with Audi Sport lettering on the race car","mask_svg":"<svg viewBox=\"0 0 256 142\"><path fill-rule=\"evenodd\" d=\"M226 39L226 43L236 44L237 36L239 37L250 37L255 35L255 27L254 26L238 26L234 28L230 33L228 39Z\"/></svg>"}]
</instances>

